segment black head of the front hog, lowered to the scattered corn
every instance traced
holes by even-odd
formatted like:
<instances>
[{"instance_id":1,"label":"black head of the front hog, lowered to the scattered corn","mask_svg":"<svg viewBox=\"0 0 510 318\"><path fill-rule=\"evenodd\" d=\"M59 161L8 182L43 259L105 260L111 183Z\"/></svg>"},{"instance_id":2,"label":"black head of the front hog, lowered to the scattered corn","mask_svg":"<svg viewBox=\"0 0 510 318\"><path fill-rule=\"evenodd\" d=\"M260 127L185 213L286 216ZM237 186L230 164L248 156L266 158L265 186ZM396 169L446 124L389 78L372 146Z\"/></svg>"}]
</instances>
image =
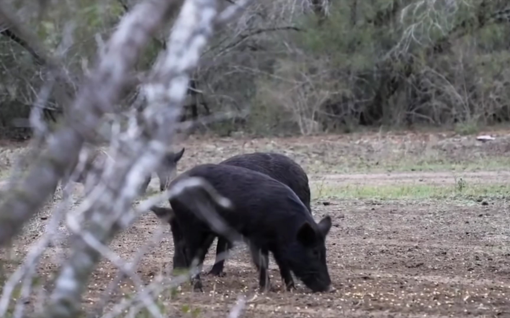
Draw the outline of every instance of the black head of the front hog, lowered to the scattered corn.
<instances>
[{"instance_id":1,"label":"black head of the front hog, lowered to the scattered corn","mask_svg":"<svg viewBox=\"0 0 510 318\"><path fill-rule=\"evenodd\" d=\"M286 252L285 258L291 270L313 292L326 292L331 285L325 246L330 228L331 218L328 215L317 225L303 223Z\"/></svg>"}]
</instances>

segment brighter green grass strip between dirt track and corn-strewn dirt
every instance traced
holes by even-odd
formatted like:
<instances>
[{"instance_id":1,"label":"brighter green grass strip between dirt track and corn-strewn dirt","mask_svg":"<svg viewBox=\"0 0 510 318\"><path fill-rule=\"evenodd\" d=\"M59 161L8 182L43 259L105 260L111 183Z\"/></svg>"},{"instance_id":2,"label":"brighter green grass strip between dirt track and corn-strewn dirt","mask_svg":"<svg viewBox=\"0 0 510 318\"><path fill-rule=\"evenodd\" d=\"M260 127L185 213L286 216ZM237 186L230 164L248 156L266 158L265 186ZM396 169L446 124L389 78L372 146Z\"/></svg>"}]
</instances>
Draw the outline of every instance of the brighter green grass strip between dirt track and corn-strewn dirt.
<instances>
[{"instance_id":1,"label":"brighter green grass strip between dirt track and corn-strewn dirt","mask_svg":"<svg viewBox=\"0 0 510 318\"><path fill-rule=\"evenodd\" d=\"M349 199L434 199L434 198L486 198L509 197L510 185L477 184L469 185L460 182L455 185L314 185L312 197L321 199L326 197Z\"/></svg>"}]
</instances>

